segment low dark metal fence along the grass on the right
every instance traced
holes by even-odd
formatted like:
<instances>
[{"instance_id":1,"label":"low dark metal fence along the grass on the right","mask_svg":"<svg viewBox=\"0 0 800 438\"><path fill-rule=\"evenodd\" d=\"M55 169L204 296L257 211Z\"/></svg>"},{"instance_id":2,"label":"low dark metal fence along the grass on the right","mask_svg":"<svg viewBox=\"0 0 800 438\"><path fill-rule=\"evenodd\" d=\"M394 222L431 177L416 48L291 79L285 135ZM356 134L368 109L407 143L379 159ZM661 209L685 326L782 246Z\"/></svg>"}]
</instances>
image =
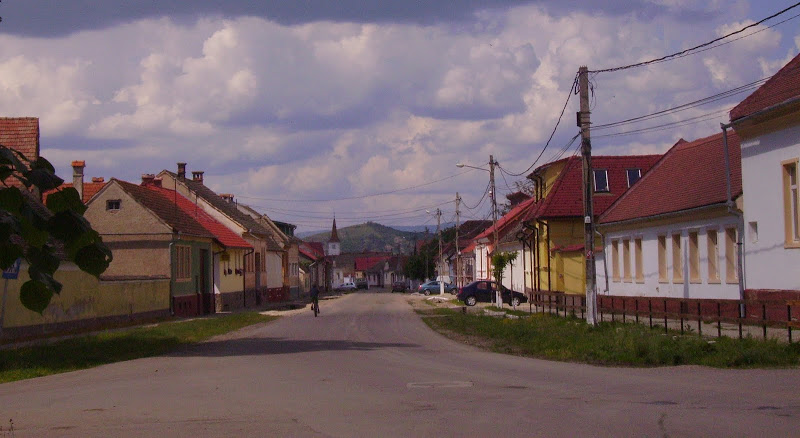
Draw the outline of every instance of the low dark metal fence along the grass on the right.
<instances>
[{"instance_id":1,"label":"low dark metal fence along the grass on the right","mask_svg":"<svg viewBox=\"0 0 800 438\"><path fill-rule=\"evenodd\" d=\"M575 316L583 319L586 312L586 297L563 292L529 292L529 312ZM760 328L767 339L767 329L785 330L788 341L793 342L792 329L800 328L800 300L712 300L684 298L628 297L599 295L597 312L600 321L644 323L653 328L663 323L664 332L669 331L669 321L680 323L684 333L696 323L697 333L716 329L722 336L723 324L738 329L739 339L753 328ZM654 323L655 321L655 323Z\"/></svg>"}]
</instances>

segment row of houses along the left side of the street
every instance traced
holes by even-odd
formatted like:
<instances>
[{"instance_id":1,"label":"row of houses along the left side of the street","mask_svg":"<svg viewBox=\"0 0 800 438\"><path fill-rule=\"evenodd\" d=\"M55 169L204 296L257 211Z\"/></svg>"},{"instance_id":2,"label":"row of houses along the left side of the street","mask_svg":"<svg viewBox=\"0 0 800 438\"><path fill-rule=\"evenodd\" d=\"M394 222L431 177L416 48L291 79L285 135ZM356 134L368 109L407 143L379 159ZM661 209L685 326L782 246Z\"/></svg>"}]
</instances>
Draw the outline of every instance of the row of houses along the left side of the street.
<instances>
[{"instance_id":1,"label":"row of houses along the left side of the street","mask_svg":"<svg viewBox=\"0 0 800 438\"><path fill-rule=\"evenodd\" d=\"M0 118L0 144L39 157L39 120ZM0 337L20 338L131 320L204 315L297 298L314 281L322 284L325 256L294 237L292 224L218 194L204 172L143 174L136 183L94 177L73 161L73 187L84 217L111 249L113 261L99 278L62 262L56 279L63 290L43 315L25 309L19 277L7 283ZM55 190L54 190L55 191ZM53 193L31 193L45 203Z\"/></svg>"}]
</instances>

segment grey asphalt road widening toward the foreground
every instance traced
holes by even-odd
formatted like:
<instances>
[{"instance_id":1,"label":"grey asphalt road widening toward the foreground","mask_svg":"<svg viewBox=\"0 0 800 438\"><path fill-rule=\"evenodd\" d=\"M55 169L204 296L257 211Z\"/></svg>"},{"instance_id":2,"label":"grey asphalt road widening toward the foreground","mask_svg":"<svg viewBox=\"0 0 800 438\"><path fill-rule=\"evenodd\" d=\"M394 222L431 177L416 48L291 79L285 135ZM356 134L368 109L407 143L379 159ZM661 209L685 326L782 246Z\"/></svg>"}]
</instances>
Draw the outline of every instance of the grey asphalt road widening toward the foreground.
<instances>
[{"instance_id":1,"label":"grey asphalt road widening toward the foreground","mask_svg":"<svg viewBox=\"0 0 800 438\"><path fill-rule=\"evenodd\" d=\"M0 385L0 437L800 436L800 370L480 351L357 293L174 354ZM5 432L4 432L5 431Z\"/></svg>"}]
</instances>

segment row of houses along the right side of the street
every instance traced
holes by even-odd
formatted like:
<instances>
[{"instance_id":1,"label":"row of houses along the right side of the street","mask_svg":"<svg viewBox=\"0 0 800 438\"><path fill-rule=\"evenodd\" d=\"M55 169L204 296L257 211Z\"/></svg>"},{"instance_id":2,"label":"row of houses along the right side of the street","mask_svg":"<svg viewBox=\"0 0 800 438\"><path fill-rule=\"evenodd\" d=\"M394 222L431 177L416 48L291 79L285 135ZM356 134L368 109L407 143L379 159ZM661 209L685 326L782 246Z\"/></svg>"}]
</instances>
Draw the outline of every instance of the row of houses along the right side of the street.
<instances>
[{"instance_id":1,"label":"row of houses along the right side of the street","mask_svg":"<svg viewBox=\"0 0 800 438\"><path fill-rule=\"evenodd\" d=\"M592 157L595 247L584 246L582 163L536 168L532 194L461 249L444 272L491 278L490 255L517 253L514 290L582 294L589 251L598 292L763 299L800 294L800 56L730 111L721 131L663 155ZM496 236L496 237L495 237Z\"/></svg>"}]
</instances>

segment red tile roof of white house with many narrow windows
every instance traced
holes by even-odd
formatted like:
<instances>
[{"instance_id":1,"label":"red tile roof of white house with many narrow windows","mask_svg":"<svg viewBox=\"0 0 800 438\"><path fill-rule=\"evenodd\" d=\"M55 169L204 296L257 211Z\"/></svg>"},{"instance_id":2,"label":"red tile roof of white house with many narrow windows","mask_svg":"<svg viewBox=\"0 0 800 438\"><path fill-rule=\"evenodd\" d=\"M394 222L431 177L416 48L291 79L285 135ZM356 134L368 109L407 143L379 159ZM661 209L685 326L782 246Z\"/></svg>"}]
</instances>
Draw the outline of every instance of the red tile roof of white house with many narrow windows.
<instances>
[{"instance_id":1,"label":"red tile roof of white house with many narrow windows","mask_svg":"<svg viewBox=\"0 0 800 438\"><path fill-rule=\"evenodd\" d=\"M742 193L739 138L728 132L731 193ZM722 133L679 141L599 220L626 221L724 203L727 197Z\"/></svg>"}]
</instances>

